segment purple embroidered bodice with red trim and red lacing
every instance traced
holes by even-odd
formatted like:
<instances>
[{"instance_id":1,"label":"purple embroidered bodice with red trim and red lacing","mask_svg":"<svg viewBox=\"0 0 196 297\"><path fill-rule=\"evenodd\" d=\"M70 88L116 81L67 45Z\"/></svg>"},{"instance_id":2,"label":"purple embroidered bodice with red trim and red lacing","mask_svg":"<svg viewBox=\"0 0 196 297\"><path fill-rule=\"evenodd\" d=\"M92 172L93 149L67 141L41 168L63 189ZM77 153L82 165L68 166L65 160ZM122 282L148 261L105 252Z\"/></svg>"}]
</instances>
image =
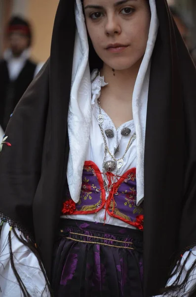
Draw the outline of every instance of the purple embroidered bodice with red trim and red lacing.
<instances>
[{"instance_id":1,"label":"purple embroidered bodice with red trim and red lacing","mask_svg":"<svg viewBox=\"0 0 196 297\"><path fill-rule=\"evenodd\" d=\"M106 175L110 188L114 175L109 172ZM136 168L131 168L118 177L106 199L103 174L94 162L86 161L79 201L75 203L68 190L62 212L69 215L89 214L104 208L110 216L143 230L143 207L136 205L136 197Z\"/></svg>"}]
</instances>

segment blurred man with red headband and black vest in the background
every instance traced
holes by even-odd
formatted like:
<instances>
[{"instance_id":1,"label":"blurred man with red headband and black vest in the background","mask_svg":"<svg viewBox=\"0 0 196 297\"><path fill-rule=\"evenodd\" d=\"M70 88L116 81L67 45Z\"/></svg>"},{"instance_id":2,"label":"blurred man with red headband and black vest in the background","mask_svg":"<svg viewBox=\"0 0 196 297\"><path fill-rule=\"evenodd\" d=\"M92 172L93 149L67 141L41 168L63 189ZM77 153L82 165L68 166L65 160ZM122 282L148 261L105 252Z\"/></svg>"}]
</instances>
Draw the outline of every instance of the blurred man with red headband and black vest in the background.
<instances>
[{"instance_id":1,"label":"blurred man with red headband and black vest in the background","mask_svg":"<svg viewBox=\"0 0 196 297\"><path fill-rule=\"evenodd\" d=\"M25 19L10 19L6 43L0 60L0 126L4 131L16 104L42 66L30 59L32 29Z\"/></svg>"}]
</instances>

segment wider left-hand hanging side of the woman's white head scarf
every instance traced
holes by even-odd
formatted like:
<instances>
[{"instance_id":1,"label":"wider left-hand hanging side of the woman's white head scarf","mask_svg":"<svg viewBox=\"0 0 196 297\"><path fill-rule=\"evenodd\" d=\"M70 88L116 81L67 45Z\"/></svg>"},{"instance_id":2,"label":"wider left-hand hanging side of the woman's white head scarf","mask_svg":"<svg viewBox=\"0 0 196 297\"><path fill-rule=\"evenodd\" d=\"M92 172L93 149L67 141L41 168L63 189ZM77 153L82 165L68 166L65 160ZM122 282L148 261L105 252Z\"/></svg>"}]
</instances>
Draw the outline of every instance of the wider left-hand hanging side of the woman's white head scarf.
<instances>
[{"instance_id":1,"label":"wider left-hand hanging side of the woman's white head scarf","mask_svg":"<svg viewBox=\"0 0 196 297\"><path fill-rule=\"evenodd\" d=\"M71 197L75 202L78 202L91 122L91 84L88 66L88 40L80 0L76 0L75 15L77 32L72 70L72 89L68 112L70 153L67 178Z\"/></svg>"}]
</instances>

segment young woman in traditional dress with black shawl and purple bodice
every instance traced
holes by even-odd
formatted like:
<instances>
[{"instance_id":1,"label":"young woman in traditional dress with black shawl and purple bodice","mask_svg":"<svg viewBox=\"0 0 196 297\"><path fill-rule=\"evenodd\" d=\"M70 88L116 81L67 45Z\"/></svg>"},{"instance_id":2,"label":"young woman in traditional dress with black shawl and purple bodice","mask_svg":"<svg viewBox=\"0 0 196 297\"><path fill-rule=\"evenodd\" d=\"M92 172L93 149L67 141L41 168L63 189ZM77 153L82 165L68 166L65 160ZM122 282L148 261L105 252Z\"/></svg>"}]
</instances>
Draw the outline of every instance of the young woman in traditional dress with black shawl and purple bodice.
<instances>
[{"instance_id":1,"label":"young woman in traditional dress with black shawl and purple bodice","mask_svg":"<svg viewBox=\"0 0 196 297\"><path fill-rule=\"evenodd\" d=\"M195 296L195 98L165 0L60 0L0 148L2 296Z\"/></svg>"}]
</instances>

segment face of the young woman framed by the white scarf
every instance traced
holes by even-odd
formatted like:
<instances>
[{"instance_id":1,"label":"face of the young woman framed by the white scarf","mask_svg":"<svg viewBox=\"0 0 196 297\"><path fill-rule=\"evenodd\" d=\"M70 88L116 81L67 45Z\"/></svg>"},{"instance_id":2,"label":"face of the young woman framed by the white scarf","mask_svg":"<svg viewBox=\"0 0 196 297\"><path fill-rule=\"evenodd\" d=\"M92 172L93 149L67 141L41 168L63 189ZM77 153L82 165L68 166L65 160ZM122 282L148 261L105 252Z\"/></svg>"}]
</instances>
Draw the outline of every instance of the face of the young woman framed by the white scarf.
<instances>
[{"instance_id":1,"label":"face of the young woman framed by the white scarf","mask_svg":"<svg viewBox=\"0 0 196 297\"><path fill-rule=\"evenodd\" d=\"M147 0L83 0L88 34L98 56L116 70L140 61L148 41Z\"/></svg>"}]
</instances>

